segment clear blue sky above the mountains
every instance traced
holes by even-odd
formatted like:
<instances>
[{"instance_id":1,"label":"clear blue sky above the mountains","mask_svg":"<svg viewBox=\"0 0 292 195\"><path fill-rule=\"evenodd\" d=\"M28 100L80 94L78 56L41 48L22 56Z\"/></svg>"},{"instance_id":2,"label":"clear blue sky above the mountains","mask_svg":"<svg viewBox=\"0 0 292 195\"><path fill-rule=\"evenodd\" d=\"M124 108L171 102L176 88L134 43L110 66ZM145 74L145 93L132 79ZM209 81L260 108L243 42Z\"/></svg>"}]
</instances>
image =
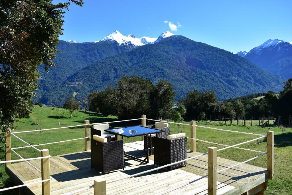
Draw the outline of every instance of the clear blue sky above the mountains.
<instances>
[{"instance_id":1,"label":"clear blue sky above the mountains","mask_svg":"<svg viewBox=\"0 0 292 195\"><path fill-rule=\"evenodd\" d=\"M97 41L114 30L136 37L158 37L172 27L173 34L233 53L249 51L268 39L292 42L290 0L84 2L83 7L69 7L60 39Z\"/></svg>"}]
</instances>

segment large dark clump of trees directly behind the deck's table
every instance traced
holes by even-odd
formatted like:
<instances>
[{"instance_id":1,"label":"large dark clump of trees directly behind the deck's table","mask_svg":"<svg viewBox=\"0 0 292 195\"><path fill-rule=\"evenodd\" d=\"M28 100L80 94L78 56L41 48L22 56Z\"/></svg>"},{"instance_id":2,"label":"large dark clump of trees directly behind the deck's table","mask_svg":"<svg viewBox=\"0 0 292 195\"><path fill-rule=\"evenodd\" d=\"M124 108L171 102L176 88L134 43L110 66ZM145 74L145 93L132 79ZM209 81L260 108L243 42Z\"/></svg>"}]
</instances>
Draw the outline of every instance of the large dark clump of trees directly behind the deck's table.
<instances>
[{"instance_id":1,"label":"large dark clump of trees directly behind the deck's table","mask_svg":"<svg viewBox=\"0 0 292 195\"><path fill-rule=\"evenodd\" d=\"M149 79L122 77L117 88L108 87L105 91L91 92L89 106L104 115L119 118L136 118L146 114L151 117L168 117L174 101L173 87L160 80L155 86Z\"/></svg>"}]
</instances>

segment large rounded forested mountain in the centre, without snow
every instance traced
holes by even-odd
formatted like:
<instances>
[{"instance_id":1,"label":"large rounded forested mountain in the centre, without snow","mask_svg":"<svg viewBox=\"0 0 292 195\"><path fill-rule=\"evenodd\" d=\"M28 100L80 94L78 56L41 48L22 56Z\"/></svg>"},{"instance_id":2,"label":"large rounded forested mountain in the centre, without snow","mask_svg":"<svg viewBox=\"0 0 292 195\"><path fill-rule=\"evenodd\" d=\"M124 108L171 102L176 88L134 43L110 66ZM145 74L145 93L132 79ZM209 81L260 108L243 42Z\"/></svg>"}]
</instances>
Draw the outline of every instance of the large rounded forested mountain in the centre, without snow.
<instances>
[{"instance_id":1,"label":"large rounded forested mountain in the centre, without snow","mask_svg":"<svg viewBox=\"0 0 292 195\"><path fill-rule=\"evenodd\" d=\"M86 66L68 77L60 91L48 94L48 102L68 98L73 92L81 100L93 90L115 85L124 75L149 78L154 83L159 78L168 80L176 98L197 89L215 91L219 100L225 100L269 90L278 92L283 83L280 77L236 54L174 35Z\"/></svg>"}]
</instances>

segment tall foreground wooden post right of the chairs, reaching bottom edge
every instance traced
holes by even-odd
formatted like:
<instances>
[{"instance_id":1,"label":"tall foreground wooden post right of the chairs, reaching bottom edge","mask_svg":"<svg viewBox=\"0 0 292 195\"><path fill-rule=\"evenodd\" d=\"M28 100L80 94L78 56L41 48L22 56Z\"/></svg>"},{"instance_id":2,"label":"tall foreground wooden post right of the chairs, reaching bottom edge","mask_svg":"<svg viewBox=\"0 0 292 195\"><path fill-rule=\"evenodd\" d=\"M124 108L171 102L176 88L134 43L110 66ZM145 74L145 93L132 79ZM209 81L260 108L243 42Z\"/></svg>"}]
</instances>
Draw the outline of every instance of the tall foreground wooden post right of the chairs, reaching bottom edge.
<instances>
[{"instance_id":1,"label":"tall foreground wooden post right of the chairs, reaching bottom edge","mask_svg":"<svg viewBox=\"0 0 292 195\"><path fill-rule=\"evenodd\" d=\"M217 148L208 148L208 195L217 192Z\"/></svg>"}]
</instances>

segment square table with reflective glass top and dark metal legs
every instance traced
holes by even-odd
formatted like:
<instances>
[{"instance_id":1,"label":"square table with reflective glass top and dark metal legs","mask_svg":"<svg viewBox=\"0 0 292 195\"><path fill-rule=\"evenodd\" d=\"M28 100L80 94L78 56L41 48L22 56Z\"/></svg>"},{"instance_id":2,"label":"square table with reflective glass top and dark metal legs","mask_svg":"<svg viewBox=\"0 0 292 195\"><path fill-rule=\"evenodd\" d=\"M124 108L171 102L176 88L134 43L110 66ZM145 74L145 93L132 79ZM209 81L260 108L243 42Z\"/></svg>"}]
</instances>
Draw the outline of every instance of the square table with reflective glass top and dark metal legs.
<instances>
[{"instance_id":1,"label":"square table with reflective glass top and dark metal legs","mask_svg":"<svg viewBox=\"0 0 292 195\"><path fill-rule=\"evenodd\" d=\"M151 134L155 134L155 133L159 133L159 132L164 132L163 130L158 130L158 129L154 129L154 128L150 128L150 127L143 127L143 126L133 126L133 127L124 127L124 128L118 128L118 129L108 129L105 130L106 132L109 132L111 134L114 134L116 136L116 140L118 140L118 135L120 135L122 137L122 139L124 139L124 137L135 137L135 136L144 136L146 135L146 139L147 139L147 147L148 147L148 137L150 138L150 155L152 154L152 146L151 146ZM148 136L150 134L150 136ZM135 160L138 161L140 163L145 163L148 164L149 163L149 149L146 152L146 155L142 155L142 156L132 156L129 154L126 154L124 151L124 156L126 157L126 159L124 161L129 161L129 160ZM146 157L144 160L141 160L141 157Z\"/></svg>"}]
</instances>

